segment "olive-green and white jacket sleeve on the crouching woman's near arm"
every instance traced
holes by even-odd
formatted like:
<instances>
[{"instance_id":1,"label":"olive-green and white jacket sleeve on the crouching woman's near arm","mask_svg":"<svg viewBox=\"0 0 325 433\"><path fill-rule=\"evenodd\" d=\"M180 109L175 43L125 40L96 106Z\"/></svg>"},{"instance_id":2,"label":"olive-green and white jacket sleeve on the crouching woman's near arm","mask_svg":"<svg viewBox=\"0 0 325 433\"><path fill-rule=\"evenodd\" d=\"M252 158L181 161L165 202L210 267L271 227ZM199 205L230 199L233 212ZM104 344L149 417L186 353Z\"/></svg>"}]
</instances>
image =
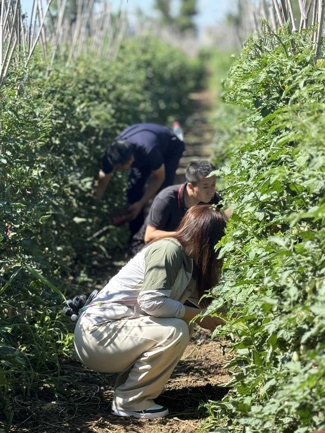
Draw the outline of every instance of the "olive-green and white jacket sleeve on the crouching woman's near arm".
<instances>
[{"instance_id":1,"label":"olive-green and white jacket sleeve on the crouching woman's near arm","mask_svg":"<svg viewBox=\"0 0 325 433\"><path fill-rule=\"evenodd\" d=\"M168 239L157 241L148 249L138 304L150 316L184 316L184 305L173 299L173 285L183 266L183 254L182 247Z\"/></svg>"}]
</instances>

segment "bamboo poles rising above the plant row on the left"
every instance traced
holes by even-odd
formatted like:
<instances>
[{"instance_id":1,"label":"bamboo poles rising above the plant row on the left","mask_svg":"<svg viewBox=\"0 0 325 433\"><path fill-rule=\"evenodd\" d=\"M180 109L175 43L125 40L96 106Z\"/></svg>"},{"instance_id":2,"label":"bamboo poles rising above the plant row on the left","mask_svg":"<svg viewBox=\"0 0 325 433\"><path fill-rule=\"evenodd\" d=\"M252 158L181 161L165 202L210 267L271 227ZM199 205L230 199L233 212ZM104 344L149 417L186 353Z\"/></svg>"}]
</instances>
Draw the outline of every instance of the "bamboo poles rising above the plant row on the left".
<instances>
[{"instance_id":1,"label":"bamboo poles rising above the plant row on the left","mask_svg":"<svg viewBox=\"0 0 325 433\"><path fill-rule=\"evenodd\" d=\"M53 2L54 3L54 2ZM36 46L48 64L48 74L58 58L70 65L81 56L114 58L128 29L127 15L111 14L108 0L71 2L33 0L27 23L20 0L0 0L0 87L10 65L29 64Z\"/></svg>"}]
</instances>

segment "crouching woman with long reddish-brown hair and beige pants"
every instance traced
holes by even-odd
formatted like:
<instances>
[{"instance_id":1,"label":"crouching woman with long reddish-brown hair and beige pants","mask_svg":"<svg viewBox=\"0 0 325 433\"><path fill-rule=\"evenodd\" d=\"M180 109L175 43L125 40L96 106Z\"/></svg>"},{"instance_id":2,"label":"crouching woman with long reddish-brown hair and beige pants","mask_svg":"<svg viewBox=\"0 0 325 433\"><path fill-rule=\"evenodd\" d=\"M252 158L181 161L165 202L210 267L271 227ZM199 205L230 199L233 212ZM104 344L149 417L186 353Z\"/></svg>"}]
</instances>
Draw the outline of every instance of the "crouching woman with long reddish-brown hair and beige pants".
<instances>
[{"instance_id":1,"label":"crouching woman with long reddish-brown hair and beige pants","mask_svg":"<svg viewBox=\"0 0 325 433\"><path fill-rule=\"evenodd\" d=\"M81 362L117 377L112 414L163 417L154 403L189 342L188 323L204 291L218 283L221 261L214 246L224 235L224 216L210 205L191 207L173 236L140 251L97 294L75 327ZM203 311L201 309L201 311ZM198 324L214 330L222 321Z\"/></svg>"}]
</instances>

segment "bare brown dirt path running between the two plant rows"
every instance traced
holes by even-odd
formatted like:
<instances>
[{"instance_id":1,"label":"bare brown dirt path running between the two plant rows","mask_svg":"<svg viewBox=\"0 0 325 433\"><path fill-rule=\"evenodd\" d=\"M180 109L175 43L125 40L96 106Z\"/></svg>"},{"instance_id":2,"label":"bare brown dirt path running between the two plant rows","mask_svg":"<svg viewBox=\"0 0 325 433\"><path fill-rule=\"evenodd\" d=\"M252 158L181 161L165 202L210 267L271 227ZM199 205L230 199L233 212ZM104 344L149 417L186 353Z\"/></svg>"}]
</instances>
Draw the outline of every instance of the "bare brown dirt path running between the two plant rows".
<instances>
[{"instance_id":1,"label":"bare brown dirt path running between the two plant rows","mask_svg":"<svg viewBox=\"0 0 325 433\"><path fill-rule=\"evenodd\" d=\"M185 180L188 162L209 157L212 138L212 128L207 121L209 97L210 94L203 92L192 95L195 110L184 124L186 152L175 183ZM194 433L206 417L205 408L199 409L199 405L208 400L219 400L227 393L227 388L220 386L228 381L227 373L222 369L226 358L227 355L224 357L221 353L221 344L211 341L210 332L195 326L190 344L166 385L166 392L156 399L158 404L171 411L168 417L158 420L112 416L110 403L117 375L92 372L77 360L62 360L60 375L67 378L65 388L57 394L43 388L36 397L16 396L10 431Z\"/></svg>"}]
</instances>

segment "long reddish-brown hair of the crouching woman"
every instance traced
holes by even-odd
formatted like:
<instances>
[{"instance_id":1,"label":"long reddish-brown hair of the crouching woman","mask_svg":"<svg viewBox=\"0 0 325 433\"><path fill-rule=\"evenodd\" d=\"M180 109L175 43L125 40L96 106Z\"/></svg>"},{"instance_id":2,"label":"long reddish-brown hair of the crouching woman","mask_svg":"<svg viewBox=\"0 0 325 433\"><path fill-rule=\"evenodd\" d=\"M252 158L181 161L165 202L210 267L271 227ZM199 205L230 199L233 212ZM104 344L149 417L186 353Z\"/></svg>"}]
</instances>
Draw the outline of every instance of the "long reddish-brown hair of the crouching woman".
<instances>
[{"instance_id":1,"label":"long reddish-brown hair of the crouching woman","mask_svg":"<svg viewBox=\"0 0 325 433\"><path fill-rule=\"evenodd\" d=\"M217 259L215 246L224 236L225 227L221 212L210 204L199 204L188 209L174 235L164 236L177 239L193 259L199 297L219 282L223 261Z\"/></svg>"}]
</instances>

